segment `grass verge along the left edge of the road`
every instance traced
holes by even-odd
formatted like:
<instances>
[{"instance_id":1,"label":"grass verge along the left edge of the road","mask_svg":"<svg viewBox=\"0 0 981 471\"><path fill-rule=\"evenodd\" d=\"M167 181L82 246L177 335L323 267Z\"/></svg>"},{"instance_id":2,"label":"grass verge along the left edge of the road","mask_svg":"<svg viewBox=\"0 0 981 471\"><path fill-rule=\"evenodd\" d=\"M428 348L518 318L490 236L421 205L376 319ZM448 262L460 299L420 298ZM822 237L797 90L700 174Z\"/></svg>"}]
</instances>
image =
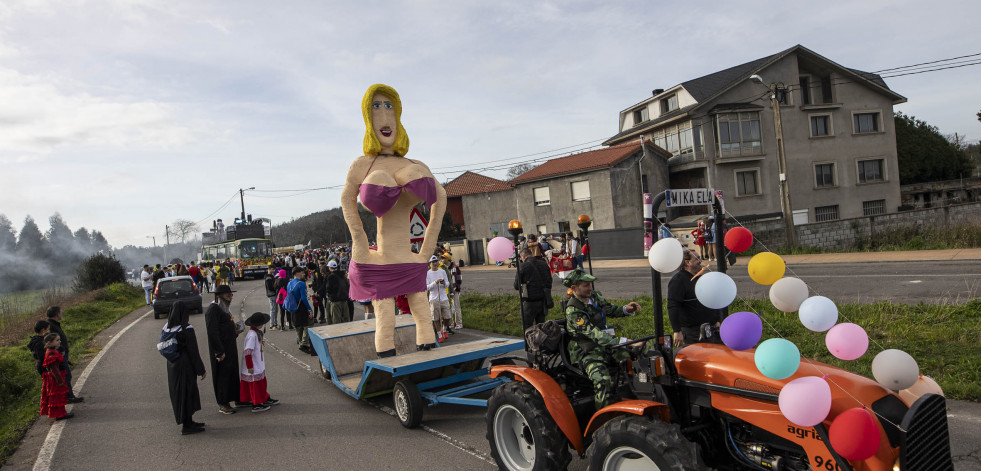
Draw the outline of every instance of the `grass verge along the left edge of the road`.
<instances>
[{"instance_id":1,"label":"grass verge along the left edge of the road","mask_svg":"<svg viewBox=\"0 0 981 471\"><path fill-rule=\"evenodd\" d=\"M95 334L144 302L142 289L117 283L91 293L89 302L63 308L62 326L72 343L72 363L78 363L94 351L88 343ZM41 377L26 348L28 339L29 336L25 336L19 344L0 347L0 404L4 412L0 414L0 463L17 449L21 438L38 417ZM76 377L80 373L75 373Z\"/></svg>"}]
</instances>

